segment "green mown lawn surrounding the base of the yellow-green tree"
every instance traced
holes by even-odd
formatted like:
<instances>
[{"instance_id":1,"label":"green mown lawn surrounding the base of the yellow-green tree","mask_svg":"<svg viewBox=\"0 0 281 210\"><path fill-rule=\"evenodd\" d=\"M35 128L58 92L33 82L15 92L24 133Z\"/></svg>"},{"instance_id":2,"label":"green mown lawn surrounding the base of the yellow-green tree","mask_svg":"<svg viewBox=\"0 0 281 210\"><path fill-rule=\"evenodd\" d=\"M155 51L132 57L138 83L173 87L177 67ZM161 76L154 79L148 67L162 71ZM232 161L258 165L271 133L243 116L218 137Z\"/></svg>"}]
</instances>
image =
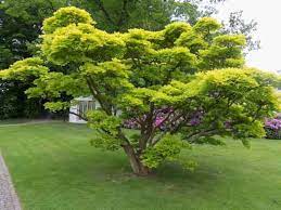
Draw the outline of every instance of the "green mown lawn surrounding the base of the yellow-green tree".
<instances>
[{"instance_id":1,"label":"green mown lawn surrounding the base of the yellow-green tree","mask_svg":"<svg viewBox=\"0 0 281 210\"><path fill-rule=\"evenodd\" d=\"M281 209L281 141L253 140L195 146L154 176L131 175L122 152L90 146L82 124L0 128L0 148L25 210L269 210Z\"/></svg>"}]
</instances>

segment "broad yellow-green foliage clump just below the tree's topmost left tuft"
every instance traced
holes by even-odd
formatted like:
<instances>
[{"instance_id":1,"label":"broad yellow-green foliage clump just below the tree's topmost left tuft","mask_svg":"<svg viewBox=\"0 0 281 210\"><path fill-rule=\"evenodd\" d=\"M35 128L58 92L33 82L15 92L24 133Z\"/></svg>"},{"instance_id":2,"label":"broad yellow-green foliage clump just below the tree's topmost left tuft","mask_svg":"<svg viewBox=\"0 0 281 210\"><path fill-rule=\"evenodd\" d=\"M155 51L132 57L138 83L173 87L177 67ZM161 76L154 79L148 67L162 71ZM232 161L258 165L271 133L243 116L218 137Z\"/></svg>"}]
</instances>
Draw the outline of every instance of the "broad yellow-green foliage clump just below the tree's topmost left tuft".
<instances>
[{"instance_id":1,"label":"broad yellow-green foliage clump just below the tree's topmost left tuft","mask_svg":"<svg viewBox=\"0 0 281 210\"><path fill-rule=\"evenodd\" d=\"M58 65L108 61L122 53L125 45L117 34L110 35L84 23L58 28L42 38L43 55Z\"/></svg>"}]
</instances>

